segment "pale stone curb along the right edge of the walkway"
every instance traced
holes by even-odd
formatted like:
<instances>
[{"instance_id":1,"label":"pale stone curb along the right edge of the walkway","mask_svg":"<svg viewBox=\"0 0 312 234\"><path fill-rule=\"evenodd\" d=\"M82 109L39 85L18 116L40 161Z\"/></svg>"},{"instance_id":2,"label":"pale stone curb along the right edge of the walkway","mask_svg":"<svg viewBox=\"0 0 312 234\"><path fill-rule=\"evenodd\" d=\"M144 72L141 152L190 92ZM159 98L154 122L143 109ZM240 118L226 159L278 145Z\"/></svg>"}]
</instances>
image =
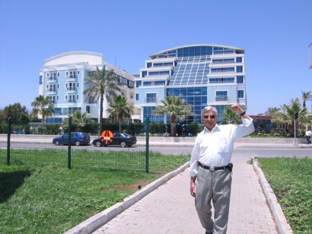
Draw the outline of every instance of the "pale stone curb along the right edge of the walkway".
<instances>
[{"instance_id":1,"label":"pale stone curb along the right edge of the walkway","mask_svg":"<svg viewBox=\"0 0 312 234\"><path fill-rule=\"evenodd\" d=\"M264 177L264 173L259 166L259 162L255 160L255 157L252 157L252 166L259 177L262 191L269 205L269 210L271 211L274 222L277 225L277 231L279 234L293 234L289 223L286 221L282 207L277 202L277 196L275 196L272 187L269 186L269 182L267 182L267 179Z\"/></svg>"}]
</instances>

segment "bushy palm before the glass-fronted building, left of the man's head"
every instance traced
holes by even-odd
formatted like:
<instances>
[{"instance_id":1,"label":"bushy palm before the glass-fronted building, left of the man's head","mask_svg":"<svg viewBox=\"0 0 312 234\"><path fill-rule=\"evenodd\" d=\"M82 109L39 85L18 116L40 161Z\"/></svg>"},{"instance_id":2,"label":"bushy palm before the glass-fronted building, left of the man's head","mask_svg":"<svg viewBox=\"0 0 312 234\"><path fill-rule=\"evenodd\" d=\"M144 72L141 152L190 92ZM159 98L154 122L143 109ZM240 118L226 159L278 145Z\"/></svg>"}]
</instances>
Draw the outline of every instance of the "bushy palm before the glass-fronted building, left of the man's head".
<instances>
[{"instance_id":1,"label":"bushy palm before the glass-fronted building, left of the man's head","mask_svg":"<svg viewBox=\"0 0 312 234\"><path fill-rule=\"evenodd\" d=\"M182 96L167 96L166 100L162 100L162 105L157 106L154 110L155 116L160 116L165 113L170 115L170 135L175 136L177 133L177 118L184 120L186 116L194 115L191 112L192 105L185 104L185 99Z\"/></svg>"}]
</instances>

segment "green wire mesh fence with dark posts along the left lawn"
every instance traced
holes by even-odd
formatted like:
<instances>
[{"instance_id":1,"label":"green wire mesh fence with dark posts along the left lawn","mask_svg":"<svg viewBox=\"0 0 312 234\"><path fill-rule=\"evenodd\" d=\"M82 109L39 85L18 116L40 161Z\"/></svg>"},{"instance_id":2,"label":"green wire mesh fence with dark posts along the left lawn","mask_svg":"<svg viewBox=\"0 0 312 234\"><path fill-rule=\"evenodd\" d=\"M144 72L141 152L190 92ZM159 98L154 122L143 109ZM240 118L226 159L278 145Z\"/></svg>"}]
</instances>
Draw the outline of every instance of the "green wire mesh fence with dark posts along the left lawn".
<instances>
[{"instance_id":1,"label":"green wire mesh fence with dark posts along the left lawn","mask_svg":"<svg viewBox=\"0 0 312 234\"><path fill-rule=\"evenodd\" d=\"M70 122L69 119L67 129L62 129L59 126L57 129L51 130L52 127L43 129L44 127L40 124L38 124L39 127L35 127L7 121L7 133L0 134L0 162L7 165L52 165L69 169L87 167L149 172L149 138L146 134L149 132L148 121L141 129L129 125L123 129L123 132L136 137L137 142L131 147L122 147L121 145L96 147L96 145L92 145L92 141L96 138L103 139L97 124L93 128L79 128L80 132L88 133L90 136L91 142L88 145L72 145L68 143L69 140L65 145L53 144L53 138L60 137L63 133L71 135L70 133L74 132ZM117 133L118 123L106 123L105 130ZM46 134L55 132L58 134Z\"/></svg>"}]
</instances>

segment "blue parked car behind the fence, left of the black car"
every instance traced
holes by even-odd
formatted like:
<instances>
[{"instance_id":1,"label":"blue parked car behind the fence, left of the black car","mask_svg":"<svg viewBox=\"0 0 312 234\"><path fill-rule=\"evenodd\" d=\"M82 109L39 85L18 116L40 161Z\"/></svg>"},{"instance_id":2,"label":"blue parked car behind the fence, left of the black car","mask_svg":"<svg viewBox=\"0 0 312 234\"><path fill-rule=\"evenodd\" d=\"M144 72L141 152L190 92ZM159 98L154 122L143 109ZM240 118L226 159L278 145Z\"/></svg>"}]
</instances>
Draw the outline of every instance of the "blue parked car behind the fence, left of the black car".
<instances>
[{"instance_id":1,"label":"blue parked car behind the fence, left of the black car","mask_svg":"<svg viewBox=\"0 0 312 234\"><path fill-rule=\"evenodd\" d=\"M61 137L54 138L52 143L55 145L67 145L68 144L68 133L65 133ZM70 138L71 145L89 145L90 136L88 133L83 132L71 132Z\"/></svg>"}]
</instances>

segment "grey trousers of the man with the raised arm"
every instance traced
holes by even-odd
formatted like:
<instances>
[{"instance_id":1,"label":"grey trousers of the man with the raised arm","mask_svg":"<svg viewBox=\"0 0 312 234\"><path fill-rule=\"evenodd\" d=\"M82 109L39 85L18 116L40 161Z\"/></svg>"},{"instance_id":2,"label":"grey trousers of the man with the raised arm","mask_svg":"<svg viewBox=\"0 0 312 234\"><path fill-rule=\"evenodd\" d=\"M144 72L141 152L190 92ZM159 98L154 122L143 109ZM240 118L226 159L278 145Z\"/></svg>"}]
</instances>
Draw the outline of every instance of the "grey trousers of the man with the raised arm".
<instances>
[{"instance_id":1,"label":"grey trousers of the man with the raised arm","mask_svg":"<svg viewBox=\"0 0 312 234\"><path fill-rule=\"evenodd\" d=\"M199 167L196 178L195 206L201 225L207 233L225 234L230 210L232 174L228 169L210 171ZM214 218L211 218L211 201Z\"/></svg>"}]
</instances>

